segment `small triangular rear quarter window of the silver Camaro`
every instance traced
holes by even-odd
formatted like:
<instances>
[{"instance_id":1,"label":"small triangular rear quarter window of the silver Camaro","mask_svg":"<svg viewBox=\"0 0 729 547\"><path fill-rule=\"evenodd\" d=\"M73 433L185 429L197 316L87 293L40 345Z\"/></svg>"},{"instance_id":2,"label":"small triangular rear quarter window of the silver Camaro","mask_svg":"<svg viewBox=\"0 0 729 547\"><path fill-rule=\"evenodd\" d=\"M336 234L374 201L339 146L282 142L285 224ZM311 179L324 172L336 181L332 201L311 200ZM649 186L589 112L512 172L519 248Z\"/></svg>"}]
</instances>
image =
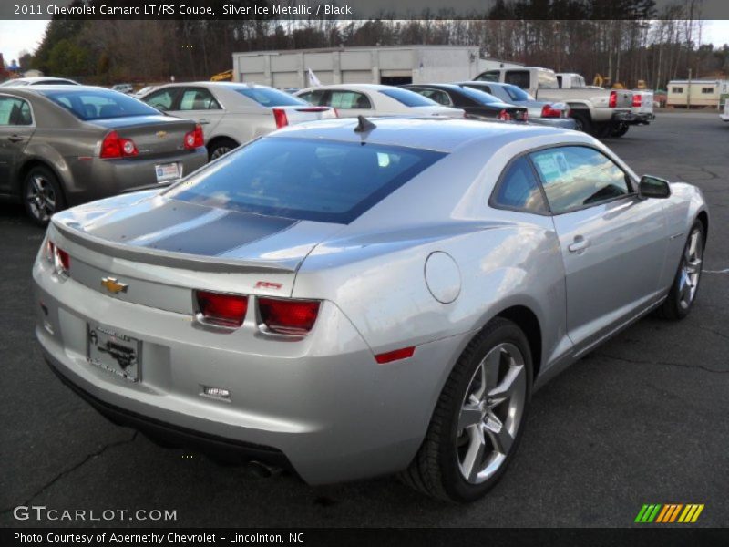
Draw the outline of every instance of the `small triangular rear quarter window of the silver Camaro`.
<instances>
[{"instance_id":1,"label":"small triangular rear quarter window of the silver Camaro","mask_svg":"<svg viewBox=\"0 0 729 547\"><path fill-rule=\"evenodd\" d=\"M525 212L547 212L539 181L526 157L512 162L491 196L491 204Z\"/></svg>"}]
</instances>

